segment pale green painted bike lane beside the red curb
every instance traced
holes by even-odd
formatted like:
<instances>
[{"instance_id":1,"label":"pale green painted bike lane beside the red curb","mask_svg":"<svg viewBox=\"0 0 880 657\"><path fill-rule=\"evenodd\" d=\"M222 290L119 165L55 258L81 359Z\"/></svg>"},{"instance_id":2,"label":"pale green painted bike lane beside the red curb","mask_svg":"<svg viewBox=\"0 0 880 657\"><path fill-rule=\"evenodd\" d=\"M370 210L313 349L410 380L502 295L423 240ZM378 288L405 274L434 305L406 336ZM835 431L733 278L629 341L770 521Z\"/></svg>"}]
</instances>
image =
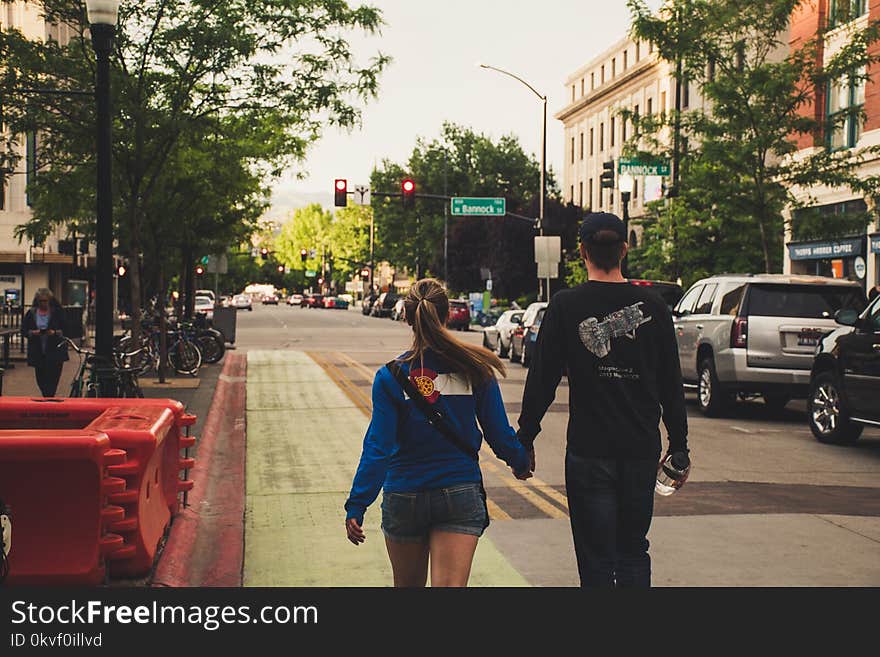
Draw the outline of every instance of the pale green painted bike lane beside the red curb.
<instances>
[{"instance_id":1,"label":"pale green painted bike lane beside the red curb","mask_svg":"<svg viewBox=\"0 0 880 657\"><path fill-rule=\"evenodd\" d=\"M344 528L369 390L347 385L319 355L247 356L244 586L390 586L381 497L364 519L365 543L352 545ZM470 585L529 584L485 535Z\"/></svg>"}]
</instances>

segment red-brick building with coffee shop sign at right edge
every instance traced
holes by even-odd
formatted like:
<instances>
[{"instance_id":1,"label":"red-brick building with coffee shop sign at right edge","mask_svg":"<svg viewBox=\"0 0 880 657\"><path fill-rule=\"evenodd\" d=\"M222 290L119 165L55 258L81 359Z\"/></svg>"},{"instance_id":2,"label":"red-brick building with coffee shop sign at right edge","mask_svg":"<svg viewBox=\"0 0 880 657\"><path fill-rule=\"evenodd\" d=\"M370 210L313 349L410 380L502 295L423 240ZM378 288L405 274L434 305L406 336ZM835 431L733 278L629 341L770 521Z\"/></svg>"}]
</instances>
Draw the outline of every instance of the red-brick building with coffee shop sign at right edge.
<instances>
[{"instance_id":1,"label":"red-brick building with coffee shop sign at right edge","mask_svg":"<svg viewBox=\"0 0 880 657\"><path fill-rule=\"evenodd\" d=\"M869 21L880 19L880 2L876 0L814 0L799 6L791 21L791 47L798 48L814 39L826 26L826 33L817 49L818 63L828 61L848 41L853 28L864 28ZM874 45L876 53L880 45ZM819 135L801 135L795 157L803 157L822 149L847 150L880 145L880 64L871 64L867 78L849 77L817 89L815 102L803 108L807 116L817 119L826 128ZM865 73L865 71L859 71ZM860 117L860 114L863 116ZM880 157L868 156L858 169L861 177L880 175ZM860 280L866 287L880 283L880 225L877 209L871 199L849 189L794 190L795 195L810 198L811 207L789 213L786 222L786 273L813 273ZM867 230L834 239L799 240L798 217L802 212L820 213L833 225L834 217L844 213L871 212L873 222Z\"/></svg>"}]
</instances>

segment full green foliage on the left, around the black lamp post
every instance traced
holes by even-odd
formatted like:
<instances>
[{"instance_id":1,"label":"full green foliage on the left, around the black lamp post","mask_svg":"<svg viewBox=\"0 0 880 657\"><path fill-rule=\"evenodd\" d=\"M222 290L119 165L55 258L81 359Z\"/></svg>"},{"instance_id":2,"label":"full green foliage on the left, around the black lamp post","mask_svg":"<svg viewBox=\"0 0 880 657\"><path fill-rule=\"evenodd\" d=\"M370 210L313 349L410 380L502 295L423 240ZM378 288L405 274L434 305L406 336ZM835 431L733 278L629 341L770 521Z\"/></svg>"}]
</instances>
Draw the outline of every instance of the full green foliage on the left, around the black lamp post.
<instances>
[{"instance_id":1,"label":"full green foliage on the left, around the black lamp post","mask_svg":"<svg viewBox=\"0 0 880 657\"><path fill-rule=\"evenodd\" d=\"M68 222L93 232L94 102L21 93L93 88L84 3L32 4L72 37L59 44L0 33L11 135L0 159L14 163L16 136L40 131L28 190L34 218L19 235L39 238ZM238 243L265 208L269 182L323 127L357 124L357 105L375 96L389 59L359 64L347 33L375 34L380 25L378 10L342 0L122 3L111 56L114 219L123 250L144 254L148 281L175 250Z\"/></svg>"}]
</instances>

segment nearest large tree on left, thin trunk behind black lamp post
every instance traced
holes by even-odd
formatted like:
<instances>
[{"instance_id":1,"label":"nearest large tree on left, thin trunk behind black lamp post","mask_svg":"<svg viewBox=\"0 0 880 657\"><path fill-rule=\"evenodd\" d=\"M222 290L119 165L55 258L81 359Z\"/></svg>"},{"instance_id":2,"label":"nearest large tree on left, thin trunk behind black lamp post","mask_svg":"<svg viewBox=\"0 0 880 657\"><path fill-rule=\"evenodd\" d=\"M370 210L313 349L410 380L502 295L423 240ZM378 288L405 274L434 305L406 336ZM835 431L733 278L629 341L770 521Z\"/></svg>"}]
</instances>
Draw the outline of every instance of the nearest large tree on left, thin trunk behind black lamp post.
<instances>
[{"instance_id":1,"label":"nearest large tree on left, thin trunk behind black lamp post","mask_svg":"<svg viewBox=\"0 0 880 657\"><path fill-rule=\"evenodd\" d=\"M95 108L84 98L21 93L35 87L86 90L94 80L84 3L35 4L73 34L66 45L29 41L14 31L0 34L0 118L13 138L40 132L38 178L51 170L62 183L34 186L34 221L23 234L39 238L58 223L92 221ZM264 179L302 159L323 126L355 125L356 103L376 94L389 59L380 54L358 65L346 32L375 33L380 25L377 10L351 8L342 0L123 3L112 61L113 182L114 216L130 258L136 261L147 239L147 213L162 201L166 167L185 148L187 135L204 134L206 121L235 117L271 127L256 152L242 153L242 161ZM5 149L4 159L14 160L14 151ZM131 282L137 313L138 267Z\"/></svg>"}]
</instances>

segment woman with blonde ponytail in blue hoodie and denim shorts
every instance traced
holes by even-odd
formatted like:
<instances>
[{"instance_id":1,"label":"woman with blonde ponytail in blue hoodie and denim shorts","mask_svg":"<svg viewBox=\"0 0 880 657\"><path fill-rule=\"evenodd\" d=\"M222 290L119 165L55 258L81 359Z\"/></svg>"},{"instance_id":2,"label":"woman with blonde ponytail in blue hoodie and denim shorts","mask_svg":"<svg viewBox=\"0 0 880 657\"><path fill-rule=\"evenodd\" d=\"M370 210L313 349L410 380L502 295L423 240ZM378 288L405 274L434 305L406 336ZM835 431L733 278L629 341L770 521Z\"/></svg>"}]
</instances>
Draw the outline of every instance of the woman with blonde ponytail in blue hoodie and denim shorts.
<instances>
[{"instance_id":1,"label":"woman with blonde ponytail in blue hoodie and denim shorts","mask_svg":"<svg viewBox=\"0 0 880 657\"><path fill-rule=\"evenodd\" d=\"M446 329L449 299L439 281L413 285L404 312L412 347L373 381L373 415L345 503L346 533L355 545L364 542L364 514L383 489L394 585L425 586L430 564L431 586L466 586L489 525L478 457L483 436L519 479L532 476L530 457L504 410L495 378L505 375L504 365Z\"/></svg>"}]
</instances>

